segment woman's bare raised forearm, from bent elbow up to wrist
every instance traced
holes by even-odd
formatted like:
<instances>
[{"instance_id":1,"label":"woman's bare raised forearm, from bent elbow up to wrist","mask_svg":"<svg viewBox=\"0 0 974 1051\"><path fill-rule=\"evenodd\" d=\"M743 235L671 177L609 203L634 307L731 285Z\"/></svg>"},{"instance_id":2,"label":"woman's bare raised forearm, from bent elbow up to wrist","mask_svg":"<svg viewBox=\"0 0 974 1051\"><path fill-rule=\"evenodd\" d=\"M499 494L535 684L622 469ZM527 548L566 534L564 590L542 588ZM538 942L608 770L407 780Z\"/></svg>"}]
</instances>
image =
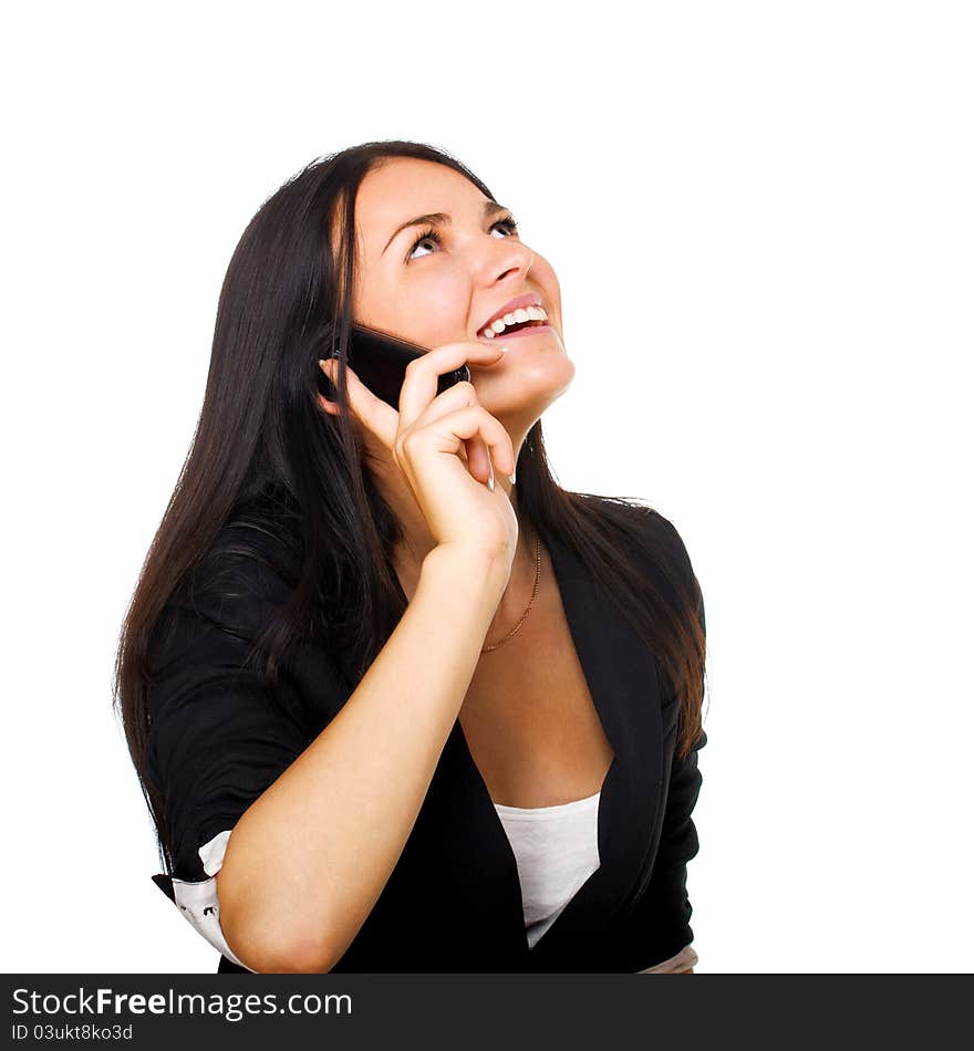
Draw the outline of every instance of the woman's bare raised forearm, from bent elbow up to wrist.
<instances>
[{"instance_id":1,"label":"woman's bare raised forearm, from bent elbow up to wrist","mask_svg":"<svg viewBox=\"0 0 974 1051\"><path fill-rule=\"evenodd\" d=\"M257 971L324 971L385 886L456 720L507 575L434 549L358 688L242 814L217 873L220 925Z\"/></svg>"}]
</instances>

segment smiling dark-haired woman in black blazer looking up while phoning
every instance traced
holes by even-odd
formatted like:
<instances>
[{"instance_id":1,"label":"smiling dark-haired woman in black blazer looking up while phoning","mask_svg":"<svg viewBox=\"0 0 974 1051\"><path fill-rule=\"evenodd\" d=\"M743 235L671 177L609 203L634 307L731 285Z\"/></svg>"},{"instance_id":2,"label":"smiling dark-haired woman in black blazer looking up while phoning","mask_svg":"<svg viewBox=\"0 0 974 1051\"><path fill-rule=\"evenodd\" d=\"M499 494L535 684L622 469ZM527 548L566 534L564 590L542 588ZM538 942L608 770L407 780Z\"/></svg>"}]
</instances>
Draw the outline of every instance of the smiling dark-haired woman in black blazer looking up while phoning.
<instances>
[{"instance_id":1,"label":"smiling dark-haired woman in black blazer looking up while phoning","mask_svg":"<svg viewBox=\"0 0 974 1051\"><path fill-rule=\"evenodd\" d=\"M431 347L397 409L352 322ZM703 600L665 518L555 481L573 374L551 266L437 149L314 162L245 231L116 663L220 971L692 972Z\"/></svg>"}]
</instances>

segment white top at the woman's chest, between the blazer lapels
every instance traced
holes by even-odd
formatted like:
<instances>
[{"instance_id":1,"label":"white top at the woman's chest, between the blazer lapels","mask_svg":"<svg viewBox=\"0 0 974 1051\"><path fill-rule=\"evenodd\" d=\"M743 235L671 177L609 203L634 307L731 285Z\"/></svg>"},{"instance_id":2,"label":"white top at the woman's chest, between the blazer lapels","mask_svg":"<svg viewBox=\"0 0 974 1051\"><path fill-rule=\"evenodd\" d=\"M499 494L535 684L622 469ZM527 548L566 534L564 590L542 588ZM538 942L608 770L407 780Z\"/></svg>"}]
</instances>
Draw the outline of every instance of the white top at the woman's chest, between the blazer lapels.
<instances>
[{"instance_id":1,"label":"white top at the woman's chest, between the blazer lapels","mask_svg":"<svg viewBox=\"0 0 974 1051\"><path fill-rule=\"evenodd\" d=\"M555 807L494 804L517 859L531 948L601 864L601 794Z\"/></svg>"}]
</instances>

